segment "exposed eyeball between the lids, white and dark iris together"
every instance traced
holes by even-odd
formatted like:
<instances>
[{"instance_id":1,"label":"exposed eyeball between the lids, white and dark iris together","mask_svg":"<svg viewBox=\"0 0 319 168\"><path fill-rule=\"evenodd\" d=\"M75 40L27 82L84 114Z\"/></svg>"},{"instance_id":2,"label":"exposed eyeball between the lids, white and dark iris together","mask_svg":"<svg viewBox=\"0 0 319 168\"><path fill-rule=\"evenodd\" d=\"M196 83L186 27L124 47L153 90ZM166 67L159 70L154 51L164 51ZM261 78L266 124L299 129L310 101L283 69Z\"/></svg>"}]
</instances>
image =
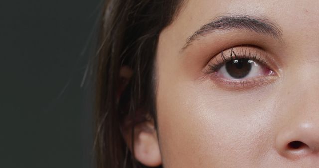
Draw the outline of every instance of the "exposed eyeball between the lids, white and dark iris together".
<instances>
[{"instance_id":1,"label":"exposed eyeball between the lids, white and dark iris together","mask_svg":"<svg viewBox=\"0 0 319 168\"><path fill-rule=\"evenodd\" d=\"M268 75L269 69L248 58L228 61L217 72L221 77L239 80Z\"/></svg>"}]
</instances>

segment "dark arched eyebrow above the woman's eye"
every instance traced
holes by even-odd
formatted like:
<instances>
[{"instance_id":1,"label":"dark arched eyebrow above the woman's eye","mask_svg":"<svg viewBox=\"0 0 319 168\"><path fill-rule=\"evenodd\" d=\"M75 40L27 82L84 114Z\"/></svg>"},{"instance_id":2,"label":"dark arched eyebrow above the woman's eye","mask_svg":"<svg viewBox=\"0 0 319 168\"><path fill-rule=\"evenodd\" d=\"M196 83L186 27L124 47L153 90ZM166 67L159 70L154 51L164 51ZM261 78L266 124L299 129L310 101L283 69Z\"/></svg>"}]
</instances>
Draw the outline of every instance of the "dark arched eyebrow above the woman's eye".
<instances>
[{"instance_id":1,"label":"dark arched eyebrow above the woman's eye","mask_svg":"<svg viewBox=\"0 0 319 168\"><path fill-rule=\"evenodd\" d=\"M199 40L199 37L205 36L216 30L234 30L245 29L259 34L272 36L281 40L282 30L275 23L267 19L255 18L252 16L221 16L216 17L208 24L203 25L199 30L189 36L186 40L182 51L185 50L192 42Z\"/></svg>"}]
</instances>

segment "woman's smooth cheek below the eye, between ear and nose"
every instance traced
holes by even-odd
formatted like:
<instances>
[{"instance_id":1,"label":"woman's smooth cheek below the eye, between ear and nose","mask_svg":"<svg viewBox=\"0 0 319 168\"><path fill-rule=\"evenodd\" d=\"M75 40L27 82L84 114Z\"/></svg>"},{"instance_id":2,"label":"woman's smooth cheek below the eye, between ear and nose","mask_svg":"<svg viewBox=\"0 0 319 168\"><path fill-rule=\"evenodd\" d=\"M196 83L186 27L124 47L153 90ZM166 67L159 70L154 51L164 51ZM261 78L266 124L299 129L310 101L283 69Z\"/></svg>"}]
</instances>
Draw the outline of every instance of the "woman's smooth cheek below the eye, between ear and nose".
<instances>
[{"instance_id":1,"label":"woman's smooth cheek below the eye, between ear and nose","mask_svg":"<svg viewBox=\"0 0 319 168\"><path fill-rule=\"evenodd\" d=\"M170 74L172 75L172 74ZM163 163L167 168L195 168L258 163L272 141L271 95L230 94L209 81L159 78L157 115ZM162 80L162 81L160 81ZM256 104L256 105L254 105Z\"/></svg>"}]
</instances>

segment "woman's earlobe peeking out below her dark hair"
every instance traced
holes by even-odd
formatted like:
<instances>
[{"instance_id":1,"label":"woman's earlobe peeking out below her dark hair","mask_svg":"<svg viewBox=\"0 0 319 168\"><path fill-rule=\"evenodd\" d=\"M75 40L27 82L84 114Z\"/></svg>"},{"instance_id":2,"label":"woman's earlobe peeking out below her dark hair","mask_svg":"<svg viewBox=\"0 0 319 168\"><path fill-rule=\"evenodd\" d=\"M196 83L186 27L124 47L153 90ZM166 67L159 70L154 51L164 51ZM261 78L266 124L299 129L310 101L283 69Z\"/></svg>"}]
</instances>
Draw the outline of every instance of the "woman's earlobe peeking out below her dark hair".
<instances>
[{"instance_id":1,"label":"woman's earlobe peeking out below her dark hair","mask_svg":"<svg viewBox=\"0 0 319 168\"><path fill-rule=\"evenodd\" d=\"M132 151L132 134L131 129L123 132L125 141ZM143 122L134 127L134 155L136 160L145 166L157 167L162 164L160 155L160 146L154 124ZM131 144L131 145L130 145Z\"/></svg>"}]
</instances>

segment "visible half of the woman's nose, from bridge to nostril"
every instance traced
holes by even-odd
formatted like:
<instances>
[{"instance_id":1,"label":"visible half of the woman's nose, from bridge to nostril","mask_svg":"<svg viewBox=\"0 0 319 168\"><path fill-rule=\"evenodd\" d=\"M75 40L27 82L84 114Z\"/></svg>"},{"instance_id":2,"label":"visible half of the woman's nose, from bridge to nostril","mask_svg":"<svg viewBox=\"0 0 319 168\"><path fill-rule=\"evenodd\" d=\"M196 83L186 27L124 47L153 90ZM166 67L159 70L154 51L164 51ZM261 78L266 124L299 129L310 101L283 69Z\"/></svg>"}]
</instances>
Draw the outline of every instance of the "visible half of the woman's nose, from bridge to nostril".
<instances>
[{"instance_id":1,"label":"visible half of the woman's nose, from bridge to nostril","mask_svg":"<svg viewBox=\"0 0 319 168\"><path fill-rule=\"evenodd\" d=\"M319 69L307 69L287 80L276 116L275 147L288 159L319 160ZM289 82L288 82L289 81ZM278 125L277 125L278 124ZM274 125L275 126L275 125ZM278 126L278 127L277 127Z\"/></svg>"}]
</instances>

